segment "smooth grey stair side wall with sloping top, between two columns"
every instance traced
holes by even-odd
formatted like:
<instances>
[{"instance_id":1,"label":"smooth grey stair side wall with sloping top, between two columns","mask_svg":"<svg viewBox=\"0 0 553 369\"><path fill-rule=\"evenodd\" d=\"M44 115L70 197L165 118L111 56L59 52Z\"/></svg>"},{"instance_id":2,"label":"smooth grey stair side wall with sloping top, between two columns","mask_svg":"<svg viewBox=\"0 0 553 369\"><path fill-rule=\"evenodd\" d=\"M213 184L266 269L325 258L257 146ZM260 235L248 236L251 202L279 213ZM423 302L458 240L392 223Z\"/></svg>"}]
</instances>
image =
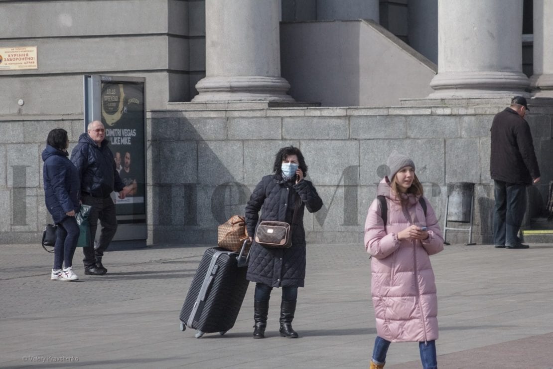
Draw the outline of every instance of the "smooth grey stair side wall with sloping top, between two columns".
<instances>
[{"instance_id":1,"label":"smooth grey stair side wall with sloping top, between two columns","mask_svg":"<svg viewBox=\"0 0 553 369\"><path fill-rule=\"evenodd\" d=\"M280 51L297 101L395 106L434 91L437 66L372 20L282 22Z\"/></svg>"}]
</instances>

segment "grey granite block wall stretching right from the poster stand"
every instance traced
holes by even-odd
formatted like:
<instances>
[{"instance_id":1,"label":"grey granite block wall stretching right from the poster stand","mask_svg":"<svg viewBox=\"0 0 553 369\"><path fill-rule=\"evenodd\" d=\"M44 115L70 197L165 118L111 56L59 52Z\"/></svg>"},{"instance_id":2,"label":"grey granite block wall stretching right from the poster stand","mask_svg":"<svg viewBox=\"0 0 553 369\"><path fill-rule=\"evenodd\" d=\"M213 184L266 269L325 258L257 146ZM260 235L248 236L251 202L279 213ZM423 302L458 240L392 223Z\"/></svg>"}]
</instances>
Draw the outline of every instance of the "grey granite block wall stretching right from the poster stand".
<instances>
[{"instance_id":1,"label":"grey granite block wall stretching right from the poster stand","mask_svg":"<svg viewBox=\"0 0 553 369\"><path fill-rule=\"evenodd\" d=\"M166 174L152 178L153 193L163 188L180 193L178 204L196 209L195 217L149 225L152 242L215 242L216 226L243 214L251 191L272 170L274 154L294 144L305 155L307 178L316 185L324 207L306 215L311 242L362 242L363 225L384 164L393 149L410 154L425 195L444 226L447 184L475 183L473 241L491 242L493 182L489 177L489 128L503 106L389 108L255 108L202 112L190 105L150 114L152 166L192 171L183 183ZM213 106L212 106L213 108ZM531 191L546 201L550 174L544 154L551 150L549 108L528 117L544 181ZM201 117L202 114L206 117ZM166 129L178 131L170 134ZM170 136L170 137L169 137ZM192 147L189 163L168 155L174 145ZM196 145L194 153L194 145ZM549 150L549 151L548 151ZM161 170L164 173L167 169ZM182 174L181 174L182 177ZM196 180L194 181L194 178ZM180 197L179 197L180 196ZM153 199L154 202L156 201ZM165 199L164 201L168 201ZM176 200L172 200L175 206ZM180 205L179 205L180 206ZM159 208L160 214L164 211ZM539 212L534 206L529 211ZM166 216L166 215L164 215ZM155 216L153 219L161 219ZM467 227L450 222L448 227ZM169 236L169 233L171 235ZM468 241L468 232L448 231L449 242ZM192 242L192 241L190 241ZM195 241L194 241L195 242Z\"/></svg>"}]
</instances>

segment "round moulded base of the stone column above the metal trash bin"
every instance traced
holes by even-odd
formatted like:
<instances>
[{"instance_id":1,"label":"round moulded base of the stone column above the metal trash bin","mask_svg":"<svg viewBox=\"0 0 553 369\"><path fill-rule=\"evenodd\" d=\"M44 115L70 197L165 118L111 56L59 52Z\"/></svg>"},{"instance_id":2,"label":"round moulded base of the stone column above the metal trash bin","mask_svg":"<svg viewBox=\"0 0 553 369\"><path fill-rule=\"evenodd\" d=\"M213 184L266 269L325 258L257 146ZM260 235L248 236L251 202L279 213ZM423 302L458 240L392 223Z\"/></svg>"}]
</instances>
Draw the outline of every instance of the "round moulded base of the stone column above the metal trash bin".
<instances>
[{"instance_id":1,"label":"round moulded base of the stone column above the metal trash bin","mask_svg":"<svg viewBox=\"0 0 553 369\"><path fill-rule=\"evenodd\" d=\"M445 72L430 82L430 98L528 95L530 81L521 72Z\"/></svg>"}]
</instances>

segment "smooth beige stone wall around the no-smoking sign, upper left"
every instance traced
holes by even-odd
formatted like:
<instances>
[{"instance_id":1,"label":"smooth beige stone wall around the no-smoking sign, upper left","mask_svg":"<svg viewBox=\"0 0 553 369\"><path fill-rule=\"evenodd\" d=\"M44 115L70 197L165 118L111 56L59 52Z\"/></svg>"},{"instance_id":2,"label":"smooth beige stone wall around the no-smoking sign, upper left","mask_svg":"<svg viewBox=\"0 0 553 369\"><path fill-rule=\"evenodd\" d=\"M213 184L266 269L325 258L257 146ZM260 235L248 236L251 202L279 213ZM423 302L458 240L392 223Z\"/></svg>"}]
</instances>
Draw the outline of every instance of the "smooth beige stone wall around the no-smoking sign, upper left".
<instances>
[{"instance_id":1,"label":"smooth beige stone wall around the no-smoking sign, upper left","mask_svg":"<svg viewBox=\"0 0 553 369\"><path fill-rule=\"evenodd\" d=\"M205 76L205 3L2 1L0 44L38 53L37 70L0 70L0 116L82 112L85 74L146 77L147 106L165 108Z\"/></svg>"}]
</instances>

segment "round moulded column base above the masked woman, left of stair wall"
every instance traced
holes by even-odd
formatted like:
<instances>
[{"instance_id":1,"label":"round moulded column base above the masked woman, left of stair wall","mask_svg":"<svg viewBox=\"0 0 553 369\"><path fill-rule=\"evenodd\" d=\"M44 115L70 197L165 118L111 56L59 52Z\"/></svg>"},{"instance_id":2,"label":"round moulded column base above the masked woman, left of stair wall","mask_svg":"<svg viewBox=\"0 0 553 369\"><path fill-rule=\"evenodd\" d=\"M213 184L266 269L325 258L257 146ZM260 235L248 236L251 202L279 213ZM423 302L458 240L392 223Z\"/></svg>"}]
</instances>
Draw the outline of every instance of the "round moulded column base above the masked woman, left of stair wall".
<instances>
[{"instance_id":1,"label":"round moulded column base above the masked woman, left of stair wall","mask_svg":"<svg viewBox=\"0 0 553 369\"><path fill-rule=\"evenodd\" d=\"M290 84L282 77L205 77L196 84L192 102L272 101L294 102L286 95Z\"/></svg>"}]
</instances>

